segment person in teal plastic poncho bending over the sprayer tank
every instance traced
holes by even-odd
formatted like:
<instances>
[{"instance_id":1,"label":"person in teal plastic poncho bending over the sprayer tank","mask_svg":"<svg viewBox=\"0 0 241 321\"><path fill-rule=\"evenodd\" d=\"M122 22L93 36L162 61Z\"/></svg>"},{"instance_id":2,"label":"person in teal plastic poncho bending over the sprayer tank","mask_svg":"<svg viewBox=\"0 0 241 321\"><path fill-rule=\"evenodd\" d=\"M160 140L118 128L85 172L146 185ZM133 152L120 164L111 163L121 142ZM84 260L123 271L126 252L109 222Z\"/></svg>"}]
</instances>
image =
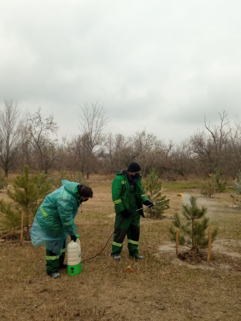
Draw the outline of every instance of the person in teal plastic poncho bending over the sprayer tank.
<instances>
[{"instance_id":1,"label":"person in teal plastic poncho bending over the sprayer tank","mask_svg":"<svg viewBox=\"0 0 241 321\"><path fill-rule=\"evenodd\" d=\"M76 241L74 219L82 202L93 197L90 187L61 180L62 186L45 197L35 215L31 227L34 246L46 247L47 274L58 279L64 264L67 235Z\"/></svg>"}]
</instances>

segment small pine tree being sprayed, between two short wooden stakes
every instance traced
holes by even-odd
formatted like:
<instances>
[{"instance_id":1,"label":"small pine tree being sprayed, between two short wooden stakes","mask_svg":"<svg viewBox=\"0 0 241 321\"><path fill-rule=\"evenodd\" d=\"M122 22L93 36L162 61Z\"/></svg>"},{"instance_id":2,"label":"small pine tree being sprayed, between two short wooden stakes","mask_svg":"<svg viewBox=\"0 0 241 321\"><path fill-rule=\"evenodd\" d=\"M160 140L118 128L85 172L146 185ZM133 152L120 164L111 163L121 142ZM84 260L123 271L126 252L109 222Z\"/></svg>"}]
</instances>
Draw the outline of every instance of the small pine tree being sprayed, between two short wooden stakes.
<instances>
[{"instance_id":1,"label":"small pine tree being sprayed, between two short wooden stakes","mask_svg":"<svg viewBox=\"0 0 241 321\"><path fill-rule=\"evenodd\" d=\"M206 218L207 208L197 206L197 198L191 196L190 205L182 206L183 219L178 213L174 214L173 224L169 231L172 234L172 241L176 241L176 229L179 230L179 244L191 248L192 259L195 259L199 249L208 247L208 233L206 232L209 219ZM218 229L212 230L212 241L215 240Z\"/></svg>"}]
</instances>

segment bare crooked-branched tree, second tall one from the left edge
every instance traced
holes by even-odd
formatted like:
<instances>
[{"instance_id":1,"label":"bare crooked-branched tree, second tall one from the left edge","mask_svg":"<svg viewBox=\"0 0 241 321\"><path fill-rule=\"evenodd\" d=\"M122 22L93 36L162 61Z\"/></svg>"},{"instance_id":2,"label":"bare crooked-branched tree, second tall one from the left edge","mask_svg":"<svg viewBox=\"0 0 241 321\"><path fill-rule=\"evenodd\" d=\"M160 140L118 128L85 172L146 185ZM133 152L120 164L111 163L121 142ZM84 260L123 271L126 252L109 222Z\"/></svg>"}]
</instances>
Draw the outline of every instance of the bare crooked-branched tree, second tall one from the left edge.
<instances>
[{"instance_id":1,"label":"bare crooked-branched tree, second tall one from the left edge","mask_svg":"<svg viewBox=\"0 0 241 321\"><path fill-rule=\"evenodd\" d=\"M33 159L31 167L47 173L53 162L58 160L58 139L50 137L50 134L57 134L58 126L54 122L53 115L43 119L40 114L40 108L30 118L29 122L28 148Z\"/></svg>"}]
</instances>

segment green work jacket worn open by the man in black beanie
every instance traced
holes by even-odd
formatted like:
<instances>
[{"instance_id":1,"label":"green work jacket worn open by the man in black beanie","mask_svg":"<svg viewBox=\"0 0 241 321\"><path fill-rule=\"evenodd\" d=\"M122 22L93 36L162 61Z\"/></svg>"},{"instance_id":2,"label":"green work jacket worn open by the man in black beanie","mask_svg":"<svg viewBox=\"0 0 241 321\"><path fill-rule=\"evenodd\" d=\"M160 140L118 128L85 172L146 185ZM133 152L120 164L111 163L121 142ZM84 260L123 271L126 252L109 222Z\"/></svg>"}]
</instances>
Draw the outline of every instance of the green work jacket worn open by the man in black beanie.
<instances>
[{"instance_id":1,"label":"green work jacket worn open by the man in black beanie","mask_svg":"<svg viewBox=\"0 0 241 321\"><path fill-rule=\"evenodd\" d=\"M115 213L119 214L125 208L130 211L130 186L128 176L126 175L126 170L120 170L115 173L116 177L112 182L112 200L115 206ZM144 195L143 189L141 186L141 176L139 176L136 181L136 190L135 196L138 208L143 207L143 203L148 200L148 198ZM140 215L144 216L144 211L140 210Z\"/></svg>"}]
</instances>

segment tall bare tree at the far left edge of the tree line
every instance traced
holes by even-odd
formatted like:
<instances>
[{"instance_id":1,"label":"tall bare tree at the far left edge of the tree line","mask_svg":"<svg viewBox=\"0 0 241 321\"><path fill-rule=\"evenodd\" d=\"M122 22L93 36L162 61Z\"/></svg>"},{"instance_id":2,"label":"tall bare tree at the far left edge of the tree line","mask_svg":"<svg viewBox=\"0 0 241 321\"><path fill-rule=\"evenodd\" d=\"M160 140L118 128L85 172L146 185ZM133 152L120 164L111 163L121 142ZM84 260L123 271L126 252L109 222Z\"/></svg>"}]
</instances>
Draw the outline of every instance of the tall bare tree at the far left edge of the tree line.
<instances>
[{"instance_id":1,"label":"tall bare tree at the far left edge of the tree line","mask_svg":"<svg viewBox=\"0 0 241 321\"><path fill-rule=\"evenodd\" d=\"M17 101L14 103L13 99L4 99L4 103L4 110L0 110L0 166L7 177L21 142L21 119Z\"/></svg>"}]
</instances>

